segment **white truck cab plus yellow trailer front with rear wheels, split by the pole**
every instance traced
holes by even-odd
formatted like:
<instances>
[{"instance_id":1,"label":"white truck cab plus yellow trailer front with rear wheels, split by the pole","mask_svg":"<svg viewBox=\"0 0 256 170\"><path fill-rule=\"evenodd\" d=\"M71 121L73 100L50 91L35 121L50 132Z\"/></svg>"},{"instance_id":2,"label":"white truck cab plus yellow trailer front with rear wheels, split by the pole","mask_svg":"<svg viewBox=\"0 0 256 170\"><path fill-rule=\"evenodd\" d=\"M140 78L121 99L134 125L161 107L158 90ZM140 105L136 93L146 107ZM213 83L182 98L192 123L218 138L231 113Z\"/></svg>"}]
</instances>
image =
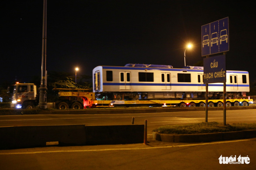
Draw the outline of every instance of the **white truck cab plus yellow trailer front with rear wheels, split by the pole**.
<instances>
[{"instance_id":1,"label":"white truck cab plus yellow trailer front with rear wheels, split by the pole","mask_svg":"<svg viewBox=\"0 0 256 170\"><path fill-rule=\"evenodd\" d=\"M91 107L95 100L93 92L88 89L54 89L58 90L58 101L53 103L56 109L84 109ZM39 104L39 94L33 83L14 84L11 108L30 109Z\"/></svg>"}]
</instances>

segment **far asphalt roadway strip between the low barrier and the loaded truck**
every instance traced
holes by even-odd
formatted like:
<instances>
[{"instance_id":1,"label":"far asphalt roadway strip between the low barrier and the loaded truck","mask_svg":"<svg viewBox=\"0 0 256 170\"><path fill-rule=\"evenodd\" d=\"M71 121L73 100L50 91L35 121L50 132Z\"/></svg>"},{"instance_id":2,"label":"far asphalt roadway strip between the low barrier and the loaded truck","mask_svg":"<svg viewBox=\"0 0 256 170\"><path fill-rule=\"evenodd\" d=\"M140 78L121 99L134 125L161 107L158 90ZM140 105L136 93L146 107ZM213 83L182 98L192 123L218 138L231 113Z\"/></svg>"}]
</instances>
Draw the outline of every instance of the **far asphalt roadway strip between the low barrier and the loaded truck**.
<instances>
[{"instance_id":1,"label":"far asphalt roadway strip between the low barrier and the loaded truck","mask_svg":"<svg viewBox=\"0 0 256 170\"><path fill-rule=\"evenodd\" d=\"M79 115L16 115L0 116L2 126L35 126L35 125L127 125L144 124L148 121L148 134L162 125L201 123L205 121L205 111L135 113L135 114L79 114ZM208 122L223 123L223 111L208 111ZM256 111L227 110L227 124L256 123Z\"/></svg>"}]
</instances>

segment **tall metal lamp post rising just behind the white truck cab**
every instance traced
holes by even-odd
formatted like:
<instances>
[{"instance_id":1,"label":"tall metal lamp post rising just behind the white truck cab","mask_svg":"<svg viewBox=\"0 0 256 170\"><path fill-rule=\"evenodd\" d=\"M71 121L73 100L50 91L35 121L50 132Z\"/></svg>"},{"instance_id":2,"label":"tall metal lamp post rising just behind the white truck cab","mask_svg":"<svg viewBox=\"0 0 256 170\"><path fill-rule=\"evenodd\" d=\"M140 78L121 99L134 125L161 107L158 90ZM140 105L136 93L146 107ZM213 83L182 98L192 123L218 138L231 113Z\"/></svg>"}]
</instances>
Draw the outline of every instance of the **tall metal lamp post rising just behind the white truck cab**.
<instances>
[{"instance_id":1,"label":"tall metal lamp post rising just behind the white truck cab","mask_svg":"<svg viewBox=\"0 0 256 170\"><path fill-rule=\"evenodd\" d=\"M46 90L46 18L47 18L47 0L43 0L43 40L42 40L42 66L41 66L41 85L39 96L39 108L47 108Z\"/></svg>"}]
</instances>

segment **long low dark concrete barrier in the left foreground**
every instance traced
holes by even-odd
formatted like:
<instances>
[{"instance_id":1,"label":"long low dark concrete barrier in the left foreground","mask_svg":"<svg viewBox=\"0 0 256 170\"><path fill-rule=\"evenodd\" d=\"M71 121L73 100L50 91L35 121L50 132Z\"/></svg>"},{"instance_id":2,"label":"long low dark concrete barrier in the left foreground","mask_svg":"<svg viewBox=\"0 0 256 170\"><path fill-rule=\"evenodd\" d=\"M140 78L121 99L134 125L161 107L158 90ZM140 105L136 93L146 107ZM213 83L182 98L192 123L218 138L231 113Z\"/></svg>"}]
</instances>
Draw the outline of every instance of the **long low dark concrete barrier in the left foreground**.
<instances>
[{"instance_id":1,"label":"long low dark concrete barrier in the left foreground","mask_svg":"<svg viewBox=\"0 0 256 170\"><path fill-rule=\"evenodd\" d=\"M0 149L143 143L144 125L0 127Z\"/></svg>"}]
</instances>

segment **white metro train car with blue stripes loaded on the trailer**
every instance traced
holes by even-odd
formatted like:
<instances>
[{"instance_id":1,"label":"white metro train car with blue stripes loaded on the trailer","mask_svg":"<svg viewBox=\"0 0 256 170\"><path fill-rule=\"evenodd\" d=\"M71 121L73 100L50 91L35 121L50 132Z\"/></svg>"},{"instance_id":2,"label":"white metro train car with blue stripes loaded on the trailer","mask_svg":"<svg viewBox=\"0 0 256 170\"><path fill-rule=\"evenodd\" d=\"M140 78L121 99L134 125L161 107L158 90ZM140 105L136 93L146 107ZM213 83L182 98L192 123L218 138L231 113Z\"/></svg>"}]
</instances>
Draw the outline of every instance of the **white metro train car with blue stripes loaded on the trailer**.
<instances>
[{"instance_id":1,"label":"white metro train car with blue stripes loaded on the trailer","mask_svg":"<svg viewBox=\"0 0 256 170\"><path fill-rule=\"evenodd\" d=\"M93 69L97 100L203 99L203 67L173 68L170 65L127 64ZM247 71L226 71L227 98L249 92ZM208 86L209 99L223 99L223 83Z\"/></svg>"}]
</instances>

